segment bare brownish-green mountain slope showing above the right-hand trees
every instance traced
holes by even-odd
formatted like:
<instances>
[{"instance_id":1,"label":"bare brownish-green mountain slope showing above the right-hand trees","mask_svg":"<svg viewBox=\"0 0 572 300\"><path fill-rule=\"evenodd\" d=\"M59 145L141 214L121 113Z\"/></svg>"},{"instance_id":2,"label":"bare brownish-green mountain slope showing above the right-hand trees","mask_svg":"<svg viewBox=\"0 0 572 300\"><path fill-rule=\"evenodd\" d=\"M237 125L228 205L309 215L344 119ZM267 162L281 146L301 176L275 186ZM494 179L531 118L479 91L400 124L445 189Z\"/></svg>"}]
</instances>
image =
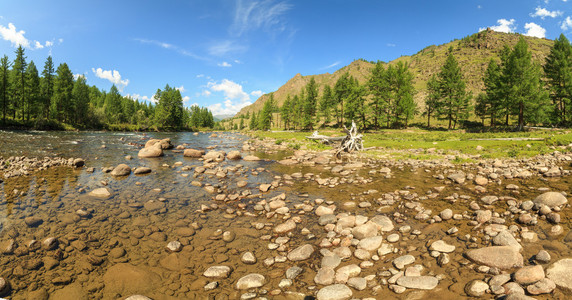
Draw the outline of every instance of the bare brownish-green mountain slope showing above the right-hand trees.
<instances>
[{"instance_id":1,"label":"bare brownish-green mountain slope showing above the right-hand trees","mask_svg":"<svg viewBox=\"0 0 572 300\"><path fill-rule=\"evenodd\" d=\"M425 47L414 55L399 57L388 64L397 64L400 61L409 64L410 70L415 76L414 86L417 91L414 97L415 102L422 108L427 94L427 80L440 71L447 58L449 48L453 49L452 53L461 66L463 78L468 89L473 92L473 95L477 95L484 88L482 78L490 59L495 58L497 61L500 61L500 53L504 46L514 47L520 36L520 34L516 33L502 33L487 29L443 45ZM554 41L528 36L524 36L524 38L528 43L528 49L532 53L533 60L539 64L544 64ZM333 87L338 78L346 72L357 78L360 84L363 84L368 80L374 66L374 62L360 59L353 61L332 74L325 73L307 76L296 74L296 76L274 92L274 99L278 106L282 106L288 95L294 96L300 93L302 87L311 78L314 78L318 86L320 86L321 94L324 85ZM241 109L236 115L239 116L261 110L268 97L269 94L262 95L253 104Z\"/></svg>"}]
</instances>

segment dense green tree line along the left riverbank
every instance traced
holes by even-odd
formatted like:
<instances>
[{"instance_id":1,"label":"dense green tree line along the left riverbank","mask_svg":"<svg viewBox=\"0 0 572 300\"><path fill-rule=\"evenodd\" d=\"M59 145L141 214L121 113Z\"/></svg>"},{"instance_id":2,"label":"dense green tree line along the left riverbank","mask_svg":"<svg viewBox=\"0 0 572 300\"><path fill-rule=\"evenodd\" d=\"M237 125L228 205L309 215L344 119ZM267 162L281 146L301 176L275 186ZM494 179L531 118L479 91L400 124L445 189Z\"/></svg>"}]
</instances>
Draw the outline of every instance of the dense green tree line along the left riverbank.
<instances>
[{"instance_id":1,"label":"dense green tree line along the left riverbank","mask_svg":"<svg viewBox=\"0 0 572 300\"><path fill-rule=\"evenodd\" d=\"M184 129L214 127L207 108L183 105L181 93L166 85L154 95L156 104L122 96L115 85L109 92L74 76L66 63L55 68L48 56L40 74L34 61L26 61L19 46L16 58L0 59L0 109L4 126L96 129Z\"/></svg>"}]
</instances>

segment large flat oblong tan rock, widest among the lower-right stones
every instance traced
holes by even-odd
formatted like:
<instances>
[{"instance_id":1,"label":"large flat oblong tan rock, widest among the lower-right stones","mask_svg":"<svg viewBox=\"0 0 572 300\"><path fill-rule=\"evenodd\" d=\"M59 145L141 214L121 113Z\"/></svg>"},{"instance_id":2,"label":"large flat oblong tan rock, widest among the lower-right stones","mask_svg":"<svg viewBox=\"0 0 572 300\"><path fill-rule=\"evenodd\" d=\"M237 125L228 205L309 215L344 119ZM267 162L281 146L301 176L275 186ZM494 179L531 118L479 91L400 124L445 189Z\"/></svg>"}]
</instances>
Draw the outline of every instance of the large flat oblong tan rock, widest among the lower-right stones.
<instances>
[{"instance_id":1,"label":"large flat oblong tan rock, widest among the lower-right stones","mask_svg":"<svg viewBox=\"0 0 572 300\"><path fill-rule=\"evenodd\" d=\"M466 252L466 256L475 263L501 270L522 267L524 259L522 255L511 246L491 246L480 249L472 249Z\"/></svg>"}]
</instances>

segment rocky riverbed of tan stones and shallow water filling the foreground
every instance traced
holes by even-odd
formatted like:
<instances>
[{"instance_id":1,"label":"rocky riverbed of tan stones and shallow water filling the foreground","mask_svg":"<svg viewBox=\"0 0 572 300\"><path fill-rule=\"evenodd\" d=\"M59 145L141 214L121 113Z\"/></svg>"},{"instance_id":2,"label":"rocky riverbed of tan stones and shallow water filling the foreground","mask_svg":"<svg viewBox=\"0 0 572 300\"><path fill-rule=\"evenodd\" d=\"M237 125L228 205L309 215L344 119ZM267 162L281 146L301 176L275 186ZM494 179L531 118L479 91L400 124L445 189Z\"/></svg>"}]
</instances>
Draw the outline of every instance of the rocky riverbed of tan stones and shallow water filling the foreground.
<instances>
[{"instance_id":1,"label":"rocky riverbed of tan stones and shallow water filling the foreground","mask_svg":"<svg viewBox=\"0 0 572 300\"><path fill-rule=\"evenodd\" d=\"M455 164L451 153L425 161L338 160L331 151L292 151L271 140L220 147L233 139L209 134L202 147L144 140L114 165L94 168L87 159L81 169L7 178L0 293L572 296L572 156L565 148ZM7 192L14 189L26 192Z\"/></svg>"}]
</instances>

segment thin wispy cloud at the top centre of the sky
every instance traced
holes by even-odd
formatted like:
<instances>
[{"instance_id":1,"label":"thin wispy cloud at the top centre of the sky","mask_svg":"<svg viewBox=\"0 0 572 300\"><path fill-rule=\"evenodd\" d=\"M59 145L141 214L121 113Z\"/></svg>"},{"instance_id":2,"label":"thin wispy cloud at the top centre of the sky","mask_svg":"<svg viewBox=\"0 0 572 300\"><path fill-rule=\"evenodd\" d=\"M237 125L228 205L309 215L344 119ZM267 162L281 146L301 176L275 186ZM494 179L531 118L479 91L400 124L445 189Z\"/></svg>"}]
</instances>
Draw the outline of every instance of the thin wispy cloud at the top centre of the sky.
<instances>
[{"instance_id":1,"label":"thin wispy cloud at the top centre of the sky","mask_svg":"<svg viewBox=\"0 0 572 300\"><path fill-rule=\"evenodd\" d=\"M283 32L287 24L282 16L292 9L286 1L238 0L231 33L241 36L250 30L264 29L269 32Z\"/></svg>"}]
</instances>

